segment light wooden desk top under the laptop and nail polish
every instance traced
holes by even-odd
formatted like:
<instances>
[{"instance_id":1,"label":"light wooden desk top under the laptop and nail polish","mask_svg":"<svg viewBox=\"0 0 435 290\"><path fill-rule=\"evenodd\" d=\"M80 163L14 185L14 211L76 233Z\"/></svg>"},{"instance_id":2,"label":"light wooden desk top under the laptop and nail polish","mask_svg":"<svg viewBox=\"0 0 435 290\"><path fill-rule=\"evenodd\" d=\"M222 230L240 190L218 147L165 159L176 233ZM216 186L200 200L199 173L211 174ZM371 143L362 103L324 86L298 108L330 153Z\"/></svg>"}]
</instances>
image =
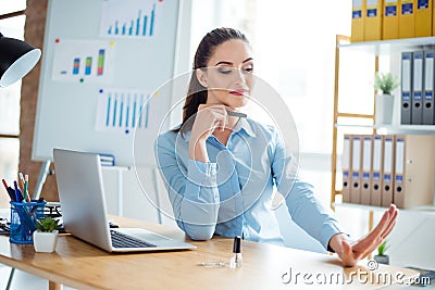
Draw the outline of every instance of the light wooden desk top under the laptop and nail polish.
<instances>
[{"instance_id":1,"label":"light wooden desk top under the laptop and nail polish","mask_svg":"<svg viewBox=\"0 0 435 290\"><path fill-rule=\"evenodd\" d=\"M121 226L146 227L167 237L185 239L178 229L127 218L112 219ZM215 237L210 241L188 242L198 249L110 254L64 235L59 239L57 252L46 254L35 253L33 245L10 243L8 237L2 236L0 263L48 279L52 289L61 288L60 285L78 289L345 289L349 288L350 275L353 275L352 289L385 286L364 282L368 277L363 282L358 281L358 272L371 273L366 261L361 261L357 267L344 268L333 255L247 241L243 242L240 268L198 266L201 262L228 262L233 239ZM408 278L418 276L414 270L384 265L374 273L395 275L399 272ZM326 282L318 282L324 277L327 277ZM330 277L335 277L333 281L343 277L339 281L344 282L331 282Z\"/></svg>"}]
</instances>

